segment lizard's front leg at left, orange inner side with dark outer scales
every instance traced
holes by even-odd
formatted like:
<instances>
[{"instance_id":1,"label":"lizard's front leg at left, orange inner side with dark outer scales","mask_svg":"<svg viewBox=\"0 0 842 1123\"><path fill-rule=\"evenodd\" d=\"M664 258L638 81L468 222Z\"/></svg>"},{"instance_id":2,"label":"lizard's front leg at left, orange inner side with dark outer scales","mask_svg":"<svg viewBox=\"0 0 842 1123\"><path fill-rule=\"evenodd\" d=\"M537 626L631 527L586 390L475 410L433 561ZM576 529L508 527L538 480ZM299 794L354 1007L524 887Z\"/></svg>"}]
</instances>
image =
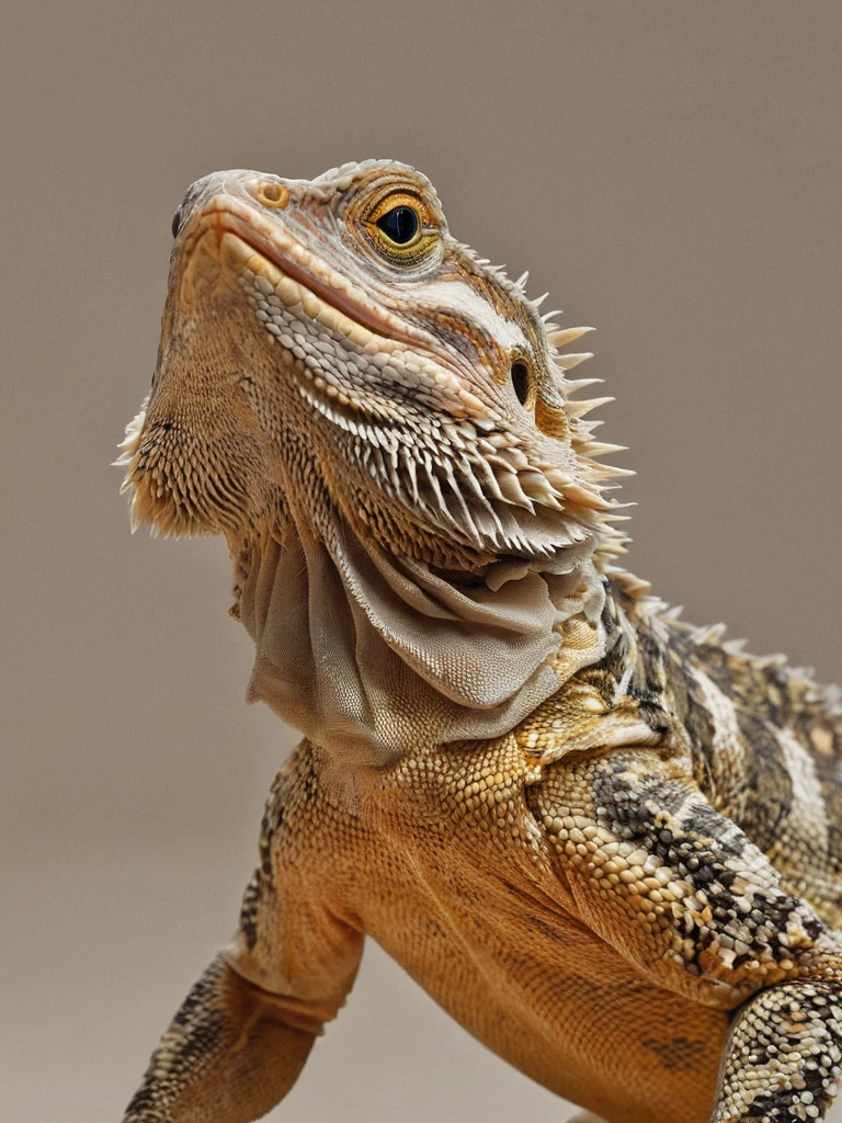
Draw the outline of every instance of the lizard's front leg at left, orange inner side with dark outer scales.
<instances>
[{"instance_id":1,"label":"lizard's front leg at left, orange inner side with dark outer scales","mask_svg":"<svg viewBox=\"0 0 842 1123\"><path fill-rule=\"evenodd\" d=\"M295 758L264 816L240 930L184 999L123 1123L249 1123L290 1090L359 966L363 933L337 914L308 842ZM313 833L309 824L310 836Z\"/></svg>"}]
</instances>

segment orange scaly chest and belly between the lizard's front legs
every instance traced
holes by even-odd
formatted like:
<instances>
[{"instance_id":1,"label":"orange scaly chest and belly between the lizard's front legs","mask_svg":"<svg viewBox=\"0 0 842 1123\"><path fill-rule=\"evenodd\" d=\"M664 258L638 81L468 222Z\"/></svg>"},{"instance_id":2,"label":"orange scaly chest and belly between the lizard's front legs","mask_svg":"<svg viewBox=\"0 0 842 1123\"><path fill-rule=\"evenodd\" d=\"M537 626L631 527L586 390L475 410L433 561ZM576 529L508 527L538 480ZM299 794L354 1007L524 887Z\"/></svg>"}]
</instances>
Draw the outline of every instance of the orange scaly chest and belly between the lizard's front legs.
<instances>
[{"instance_id":1,"label":"orange scaly chest and belly between the lizard's front legs","mask_svg":"<svg viewBox=\"0 0 842 1123\"><path fill-rule=\"evenodd\" d=\"M557 1094L612 1119L651 1119L653 1097L705 1117L726 1016L652 986L577 916L522 756L500 746L464 765L406 763L411 797L384 798L355 902L366 932Z\"/></svg>"}]
</instances>

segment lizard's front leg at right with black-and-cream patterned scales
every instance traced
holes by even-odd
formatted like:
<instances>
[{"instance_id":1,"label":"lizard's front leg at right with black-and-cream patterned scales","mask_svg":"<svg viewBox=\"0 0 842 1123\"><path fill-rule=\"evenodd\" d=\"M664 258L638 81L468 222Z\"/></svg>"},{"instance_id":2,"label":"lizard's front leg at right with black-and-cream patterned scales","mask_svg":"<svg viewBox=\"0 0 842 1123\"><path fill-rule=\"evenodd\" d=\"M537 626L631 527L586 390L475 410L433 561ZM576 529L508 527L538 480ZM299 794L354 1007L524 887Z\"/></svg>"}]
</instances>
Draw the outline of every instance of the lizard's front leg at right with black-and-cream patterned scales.
<instances>
[{"instance_id":1,"label":"lizard's front leg at right with black-and-cream patterned scales","mask_svg":"<svg viewBox=\"0 0 842 1123\"><path fill-rule=\"evenodd\" d=\"M552 766L533 801L583 920L658 985L736 1011L714 1123L823 1117L842 1058L839 934L652 750Z\"/></svg>"}]
</instances>

